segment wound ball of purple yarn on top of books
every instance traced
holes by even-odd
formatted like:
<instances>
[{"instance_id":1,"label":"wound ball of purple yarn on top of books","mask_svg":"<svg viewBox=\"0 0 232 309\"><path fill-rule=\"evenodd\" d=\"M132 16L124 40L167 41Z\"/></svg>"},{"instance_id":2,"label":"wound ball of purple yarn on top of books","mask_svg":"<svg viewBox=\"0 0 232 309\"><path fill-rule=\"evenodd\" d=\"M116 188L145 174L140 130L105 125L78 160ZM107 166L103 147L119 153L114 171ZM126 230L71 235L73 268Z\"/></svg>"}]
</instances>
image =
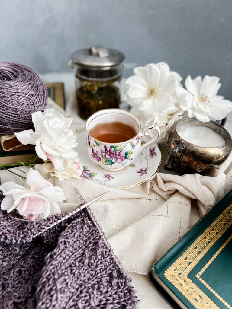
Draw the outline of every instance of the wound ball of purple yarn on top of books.
<instances>
[{"instance_id":1,"label":"wound ball of purple yarn on top of books","mask_svg":"<svg viewBox=\"0 0 232 309\"><path fill-rule=\"evenodd\" d=\"M32 113L47 105L47 90L32 69L0 62L0 136L33 126Z\"/></svg>"}]
</instances>

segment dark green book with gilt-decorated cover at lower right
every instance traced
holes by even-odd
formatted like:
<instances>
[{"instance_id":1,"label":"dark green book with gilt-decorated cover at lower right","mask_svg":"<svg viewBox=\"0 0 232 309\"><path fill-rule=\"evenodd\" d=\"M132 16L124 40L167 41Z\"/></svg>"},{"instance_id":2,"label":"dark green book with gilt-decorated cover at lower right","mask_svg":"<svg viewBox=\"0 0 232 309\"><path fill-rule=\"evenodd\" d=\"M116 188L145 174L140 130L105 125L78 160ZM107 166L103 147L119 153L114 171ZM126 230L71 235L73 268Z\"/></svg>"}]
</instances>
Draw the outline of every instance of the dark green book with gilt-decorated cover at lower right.
<instances>
[{"instance_id":1,"label":"dark green book with gilt-decorated cover at lower right","mask_svg":"<svg viewBox=\"0 0 232 309\"><path fill-rule=\"evenodd\" d=\"M232 190L152 266L174 308L232 309Z\"/></svg>"}]
</instances>

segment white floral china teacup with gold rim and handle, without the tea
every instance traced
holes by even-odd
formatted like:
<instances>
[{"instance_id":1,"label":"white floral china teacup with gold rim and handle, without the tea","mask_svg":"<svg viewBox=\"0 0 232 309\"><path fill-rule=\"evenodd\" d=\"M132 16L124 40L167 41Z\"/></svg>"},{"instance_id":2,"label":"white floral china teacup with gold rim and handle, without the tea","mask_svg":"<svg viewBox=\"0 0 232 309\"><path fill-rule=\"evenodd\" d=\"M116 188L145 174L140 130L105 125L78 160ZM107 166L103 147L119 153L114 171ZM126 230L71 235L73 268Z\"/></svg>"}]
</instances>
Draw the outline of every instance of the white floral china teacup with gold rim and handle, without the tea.
<instances>
[{"instance_id":1,"label":"white floral china teacup with gold rim and handle, without the tea","mask_svg":"<svg viewBox=\"0 0 232 309\"><path fill-rule=\"evenodd\" d=\"M127 141L115 145L113 143L102 142L89 133L89 131L99 123L114 121L132 126L136 131L136 135ZM149 136L149 129L156 130L157 135L141 146L141 138L144 138L145 135ZM160 136L160 130L156 125L146 126L141 134L141 123L138 118L127 111L117 108L103 109L94 113L86 122L86 131L89 158L106 171L120 171L124 167L127 167L133 163L133 160L144 147L155 142Z\"/></svg>"}]
</instances>

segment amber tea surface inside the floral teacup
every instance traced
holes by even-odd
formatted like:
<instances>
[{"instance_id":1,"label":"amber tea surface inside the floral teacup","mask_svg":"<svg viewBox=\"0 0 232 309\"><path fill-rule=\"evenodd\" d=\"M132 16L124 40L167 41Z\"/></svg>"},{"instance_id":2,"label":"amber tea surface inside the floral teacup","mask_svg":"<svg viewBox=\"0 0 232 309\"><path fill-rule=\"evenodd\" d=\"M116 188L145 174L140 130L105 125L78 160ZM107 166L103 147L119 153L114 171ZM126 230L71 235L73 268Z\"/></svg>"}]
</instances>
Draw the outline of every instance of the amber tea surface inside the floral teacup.
<instances>
[{"instance_id":1,"label":"amber tea surface inside the floral teacup","mask_svg":"<svg viewBox=\"0 0 232 309\"><path fill-rule=\"evenodd\" d=\"M131 125L123 122L102 122L93 127L89 133L93 138L104 143L122 143L134 138L138 132Z\"/></svg>"}]
</instances>

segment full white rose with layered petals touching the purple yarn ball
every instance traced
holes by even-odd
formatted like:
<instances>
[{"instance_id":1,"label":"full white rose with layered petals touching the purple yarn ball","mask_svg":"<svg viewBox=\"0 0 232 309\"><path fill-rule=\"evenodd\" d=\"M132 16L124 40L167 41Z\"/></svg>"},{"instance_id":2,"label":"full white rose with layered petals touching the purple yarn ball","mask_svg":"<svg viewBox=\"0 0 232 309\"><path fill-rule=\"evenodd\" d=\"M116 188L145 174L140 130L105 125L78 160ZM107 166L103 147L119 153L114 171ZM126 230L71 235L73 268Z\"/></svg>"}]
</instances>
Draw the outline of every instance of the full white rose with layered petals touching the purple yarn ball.
<instances>
[{"instance_id":1,"label":"full white rose with layered petals touching the purple yarn ball","mask_svg":"<svg viewBox=\"0 0 232 309\"><path fill-rule=\"evenodd\" d=\"M24 145L36 145L38 157L48 160L49 156L64 159L77 156L73 150L77 143L75 130L71 128L71 118L64 117L52 109L47 109L45 112L34 112L32 122L35 131L24 130L16 132L15 136Z\"/></svg>"}]
</instances>

